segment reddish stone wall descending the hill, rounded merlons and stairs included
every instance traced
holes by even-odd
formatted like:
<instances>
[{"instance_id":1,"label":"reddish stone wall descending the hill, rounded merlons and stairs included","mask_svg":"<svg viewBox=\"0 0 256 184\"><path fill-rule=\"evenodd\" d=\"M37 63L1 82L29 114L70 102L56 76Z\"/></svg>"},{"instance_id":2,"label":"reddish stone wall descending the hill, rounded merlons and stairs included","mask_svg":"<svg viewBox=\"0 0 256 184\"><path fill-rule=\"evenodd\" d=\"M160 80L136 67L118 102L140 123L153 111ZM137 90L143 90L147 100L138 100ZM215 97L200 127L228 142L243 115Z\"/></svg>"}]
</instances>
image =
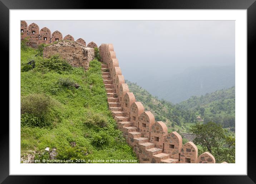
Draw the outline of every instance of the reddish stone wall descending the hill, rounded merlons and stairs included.
<instances>
[{"instance_id":1,"label":"reddish stone wall descending the hill, rounded merlons and stairs included","mask_svg":"<svg viewBox=\"0 0 256 184\"><path fill-rule=\"evenodd\" d=\"M198 156L193 142L183 145L180 134L168 133L165 123L155 121L150 111L144 111L143 104L136 101L124 82L112 44L100 45L99 53L104 63L102 73L109 110L140 163L215 163L213 155L205 152Z\"/></svg>"}]
</instances>

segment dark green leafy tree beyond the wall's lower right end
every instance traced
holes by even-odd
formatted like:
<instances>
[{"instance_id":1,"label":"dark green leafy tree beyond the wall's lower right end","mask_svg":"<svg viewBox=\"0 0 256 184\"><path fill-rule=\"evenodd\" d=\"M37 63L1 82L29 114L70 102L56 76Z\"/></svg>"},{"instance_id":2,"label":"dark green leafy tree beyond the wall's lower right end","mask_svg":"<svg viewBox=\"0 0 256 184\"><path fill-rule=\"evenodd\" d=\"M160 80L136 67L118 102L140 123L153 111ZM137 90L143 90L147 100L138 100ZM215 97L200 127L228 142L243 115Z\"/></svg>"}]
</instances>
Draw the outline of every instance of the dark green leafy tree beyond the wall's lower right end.
<instances>
[{"instance_id":1,"label":"dark green leafy tree beyond the wall's lower right end","mask_svg":"<svg viewBox=\"0 0 256 184\"><path fill-rule=\"evenodd\" d=\"M191 126L190 131L196 136L193 142L207 148L210 153L212 153L212 148L221 147L225 138L222 126L213 122L197 123Z\"/></svg>"}]
</instances>

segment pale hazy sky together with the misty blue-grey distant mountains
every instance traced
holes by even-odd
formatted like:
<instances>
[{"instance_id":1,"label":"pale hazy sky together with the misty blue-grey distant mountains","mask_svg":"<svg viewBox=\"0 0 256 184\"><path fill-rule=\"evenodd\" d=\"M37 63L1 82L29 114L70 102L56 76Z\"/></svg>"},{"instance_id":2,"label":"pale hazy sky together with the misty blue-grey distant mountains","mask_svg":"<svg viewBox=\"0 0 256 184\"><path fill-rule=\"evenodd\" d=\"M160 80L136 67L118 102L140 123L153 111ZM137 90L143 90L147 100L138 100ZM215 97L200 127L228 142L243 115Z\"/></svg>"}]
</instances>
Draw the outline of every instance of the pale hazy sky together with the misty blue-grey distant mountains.
<instances>
[{"instance_id":1,"label":"pale hazy sky together with the misty blue-grey distant mountains","mask_svg":"<svg viewBox=\"0 0 256 184\"><path fill-rule=\"evenodd\" d=\"M114 45L126 80L173 103L235 86L235 21L28 21Z\"/></svg>"}]
</instances>

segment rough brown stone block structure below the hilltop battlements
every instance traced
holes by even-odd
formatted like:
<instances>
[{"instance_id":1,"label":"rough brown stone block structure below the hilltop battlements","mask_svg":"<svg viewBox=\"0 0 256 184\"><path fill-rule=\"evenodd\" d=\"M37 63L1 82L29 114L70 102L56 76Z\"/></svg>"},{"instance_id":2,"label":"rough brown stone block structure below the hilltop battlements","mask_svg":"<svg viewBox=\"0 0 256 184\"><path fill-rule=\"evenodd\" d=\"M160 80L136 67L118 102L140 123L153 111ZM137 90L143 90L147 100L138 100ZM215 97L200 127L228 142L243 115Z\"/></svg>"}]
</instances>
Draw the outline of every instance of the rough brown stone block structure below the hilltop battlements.
<instances>
[{"instance_id":1,"label":"rough brown stone block structure below the hilltop battlements","mask_svg":"<svg viewBox=\"0 0 256 184\"><path fill-rule=\"evenodd\" d=\"M56 44L44 47L43 57L48 58L52 55L59 54L67 60L70 65L82 66L85 70L89 67L89 62L94 59L94 50L74 41L59 41Z\"/></svg>"}]
</instances>

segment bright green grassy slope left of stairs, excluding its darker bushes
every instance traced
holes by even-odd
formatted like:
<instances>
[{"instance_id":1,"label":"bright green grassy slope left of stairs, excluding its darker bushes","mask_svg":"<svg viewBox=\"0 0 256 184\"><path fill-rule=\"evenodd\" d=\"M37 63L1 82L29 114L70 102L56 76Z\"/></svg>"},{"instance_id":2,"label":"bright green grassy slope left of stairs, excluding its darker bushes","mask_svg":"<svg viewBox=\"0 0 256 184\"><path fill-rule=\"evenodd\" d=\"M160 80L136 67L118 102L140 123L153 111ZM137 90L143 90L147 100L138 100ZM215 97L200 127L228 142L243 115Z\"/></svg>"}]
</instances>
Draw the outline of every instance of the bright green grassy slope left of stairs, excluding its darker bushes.
<instances>
[{"instance_id":1,"label":"bright green grassy slope left of stairs, excluding its darker bushes","mask_svg":"<svg viewBox=\"0 0 256 184\"><path fill-rule=\"evenodd\" d=\"M21 51L21 63L35 58L35 54L36 51L33 49ZM80 87L78 89L59 87L57 82L63 77L73 79ZM41 73L34 69L21 72L21 96L31 93L47 94L55 99L59 106L54 109L55 121L52 126L21 127L21 157L26 158L29 154L40 155L44 153L46 147L63 152L72 149L70 142L75 142L77 147L89 153L84 157L86 159L137 160L108 110L100 62L96 60L90 62L87 72L83 68L74 68L71 73L66 74ZM107 127L87 126L85 122L92 113L107 118ZM108 134L110 140L108 145L99 149L92 145L92 138L100 132Z\"/></svg>"}]
</instances>

